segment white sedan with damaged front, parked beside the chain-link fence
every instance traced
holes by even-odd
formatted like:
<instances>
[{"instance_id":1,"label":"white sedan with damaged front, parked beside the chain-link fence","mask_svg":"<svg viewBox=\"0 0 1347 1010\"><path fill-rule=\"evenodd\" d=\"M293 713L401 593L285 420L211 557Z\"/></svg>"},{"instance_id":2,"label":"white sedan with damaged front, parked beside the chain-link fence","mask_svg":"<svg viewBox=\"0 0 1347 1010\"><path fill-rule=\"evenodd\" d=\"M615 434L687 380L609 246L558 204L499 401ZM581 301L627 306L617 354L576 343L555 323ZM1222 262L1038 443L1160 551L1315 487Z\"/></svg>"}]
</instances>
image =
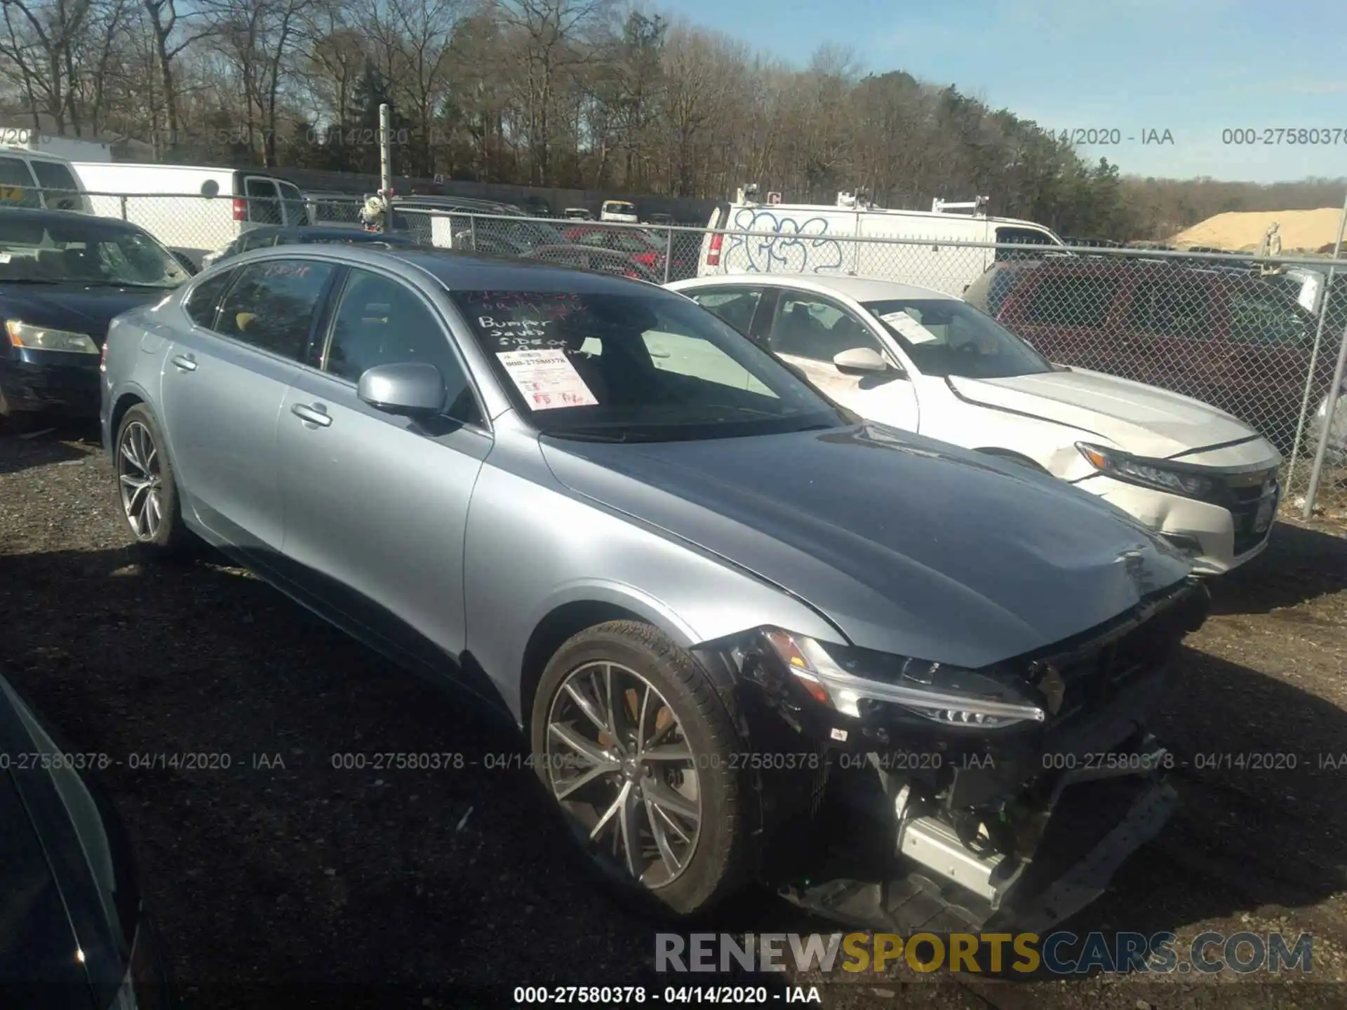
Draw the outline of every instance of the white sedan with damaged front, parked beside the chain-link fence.
<instances>
[{"instance_id":1,"label":"white sedan with damaged front, parked beside the chain-link fence","mask_svg":"<svg viewBox=\"0 0 1347 1010\"><path fill-rule=\"evenodd\" d=\"M1162 533L1200 574L1228 571L1268 545L1281 454L1210 404L1053 365L987 315L928 288L779 273L668 287L857 413L1098 494Z\"/></svg>"}]
</instances>

